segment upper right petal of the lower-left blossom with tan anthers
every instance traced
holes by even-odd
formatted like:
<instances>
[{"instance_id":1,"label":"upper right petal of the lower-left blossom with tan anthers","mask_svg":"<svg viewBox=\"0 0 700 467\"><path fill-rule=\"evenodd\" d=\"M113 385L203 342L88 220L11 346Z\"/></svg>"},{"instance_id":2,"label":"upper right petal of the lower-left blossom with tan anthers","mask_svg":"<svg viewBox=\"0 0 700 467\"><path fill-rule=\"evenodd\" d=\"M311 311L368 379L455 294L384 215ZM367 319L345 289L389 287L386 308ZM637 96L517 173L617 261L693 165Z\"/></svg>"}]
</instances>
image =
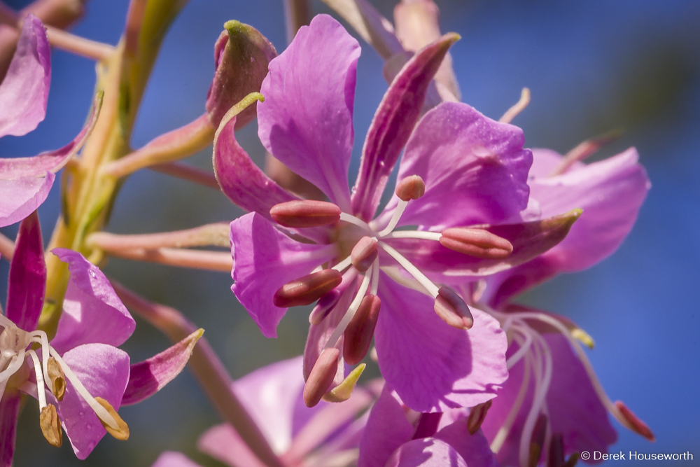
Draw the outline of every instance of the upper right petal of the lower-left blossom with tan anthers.
<instances>
[{"instance_id":1,"label":"upper right petal of the lower-left blossom with tan anthers","mask_svg":"<svg viewBox=\"0 0 700 467\"><path fill-rule=\"evenodd\" d=\"M52 347L62 353L80 344L123 344L136 322L99 267L73 250L57 248L52 253L68 263L71 272Z\"/></svg>"}]
</instances>

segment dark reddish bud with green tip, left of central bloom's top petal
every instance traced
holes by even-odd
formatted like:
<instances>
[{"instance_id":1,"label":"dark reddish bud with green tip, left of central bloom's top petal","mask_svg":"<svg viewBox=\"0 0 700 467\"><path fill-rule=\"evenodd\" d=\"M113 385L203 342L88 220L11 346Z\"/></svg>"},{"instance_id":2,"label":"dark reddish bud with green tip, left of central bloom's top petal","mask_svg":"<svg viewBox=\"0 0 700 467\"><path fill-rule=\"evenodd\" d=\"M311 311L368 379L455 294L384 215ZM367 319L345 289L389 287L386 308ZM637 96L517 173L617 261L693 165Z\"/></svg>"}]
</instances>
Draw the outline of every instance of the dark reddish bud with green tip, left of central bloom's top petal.
<instances>
[{"instance_id":1,"label":"dark reddish bud with green tip, left of central bloom's top petal","mask_svg":"<svg viewBox=\"0 0 700 467\"><path fill-rule=\"evenodd\" d=\"M224 28L214 46L216 72L207 93L207 114L215 128L228 109L251 92L260 92L267 64L277 56L272 43L254 27L228 21ZM239 113L236 129L250 123L256 109L249 106Z\"/></svg>"}]
</instances>

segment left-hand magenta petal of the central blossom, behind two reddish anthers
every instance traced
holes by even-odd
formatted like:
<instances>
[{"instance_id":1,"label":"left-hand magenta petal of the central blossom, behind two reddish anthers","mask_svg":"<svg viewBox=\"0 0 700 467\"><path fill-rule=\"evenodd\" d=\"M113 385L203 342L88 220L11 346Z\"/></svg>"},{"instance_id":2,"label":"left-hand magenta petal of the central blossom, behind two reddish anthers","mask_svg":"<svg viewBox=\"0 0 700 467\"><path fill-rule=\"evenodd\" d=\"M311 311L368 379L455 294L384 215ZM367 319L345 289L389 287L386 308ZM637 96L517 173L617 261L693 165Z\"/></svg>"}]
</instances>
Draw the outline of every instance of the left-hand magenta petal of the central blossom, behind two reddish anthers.
<instances>
[{"instance_id":1,"label":"left-hand magenta petal of the central blossom, behind two reddish anthers","mask_svg":"<svg viewBox=\"0 0 700 467\"><path fill-rule=\"evenodd\" d=\"M334 258L336 249L335 245L296 242L260 214L250 213L231 223L231 254L231 290L262 334L277 337L277 325L287 309L274 306L274 293Z\"/></svg>"}]
</instances>

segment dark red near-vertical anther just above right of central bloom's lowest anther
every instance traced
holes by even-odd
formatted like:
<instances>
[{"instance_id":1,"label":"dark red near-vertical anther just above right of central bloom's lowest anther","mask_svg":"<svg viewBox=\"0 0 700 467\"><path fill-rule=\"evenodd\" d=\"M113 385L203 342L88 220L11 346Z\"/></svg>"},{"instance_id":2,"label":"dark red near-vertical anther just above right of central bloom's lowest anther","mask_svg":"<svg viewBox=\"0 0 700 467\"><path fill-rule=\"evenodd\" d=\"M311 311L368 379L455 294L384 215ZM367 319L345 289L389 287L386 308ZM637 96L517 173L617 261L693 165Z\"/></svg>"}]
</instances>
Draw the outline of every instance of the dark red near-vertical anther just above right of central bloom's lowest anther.
<instances>
[{"instance_id":1,"label":"dark red near-vertical anther just above right of central bloom's lowest anther","mask_svg":"<svg viewBox=\"0 0 700 467\"><path fill-rule=\"evenodd\" d=\"M343 358L350 365L360 363L372 344L374 327L377 326L379 307L381 300L377 295L367 295L360 302L360 307L355 312L345 328L343 340Z\"/></svg>"}]
</instances>

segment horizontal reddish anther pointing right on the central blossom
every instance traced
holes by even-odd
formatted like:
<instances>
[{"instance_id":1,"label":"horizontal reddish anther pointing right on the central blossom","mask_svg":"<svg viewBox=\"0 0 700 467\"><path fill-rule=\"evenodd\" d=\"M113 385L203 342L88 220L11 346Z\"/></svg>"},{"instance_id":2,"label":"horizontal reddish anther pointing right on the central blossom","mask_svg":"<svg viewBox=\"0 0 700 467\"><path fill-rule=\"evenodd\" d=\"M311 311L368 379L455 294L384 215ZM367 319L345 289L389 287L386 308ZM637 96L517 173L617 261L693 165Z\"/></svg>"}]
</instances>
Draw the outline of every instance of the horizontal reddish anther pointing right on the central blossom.
<instances>
[{"instance_id":1,"label":"horizontal reddish anther pointing right on the central blossom","mask_svg":"<svg viewBox=\"0 0 700 467\"><path fill-rule=\"evenodd\" d=\"M493 260L507 258L513 252L513 245L505 238L483 229L445 229L440 244L458 253Z\"/></svg>"}]
</instances>

